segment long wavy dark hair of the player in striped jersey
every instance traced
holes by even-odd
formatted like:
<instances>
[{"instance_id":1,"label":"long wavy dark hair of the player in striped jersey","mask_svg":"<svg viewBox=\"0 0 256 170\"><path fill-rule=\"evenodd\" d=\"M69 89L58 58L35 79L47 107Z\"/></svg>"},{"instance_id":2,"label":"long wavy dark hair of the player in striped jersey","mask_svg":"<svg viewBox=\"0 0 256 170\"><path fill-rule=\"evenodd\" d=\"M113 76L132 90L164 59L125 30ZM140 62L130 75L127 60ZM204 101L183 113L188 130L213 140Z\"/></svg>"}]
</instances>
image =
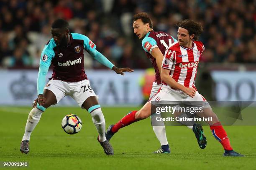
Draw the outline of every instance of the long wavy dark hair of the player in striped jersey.
<instances>
[{"instance_id":1,"label":"long wavy dark hair of the player in striped jersey","mask_svg":"<svg viewBox=\"0 0 256 170\"><path fill-rule=\"evenodd\" d=\"M188 30L189 35L194 34L194 40L199 40L199 37L203 32L202 25L193 20L181 20L176 25L177 27L185 28L186 30Z\"/></svg>"}]
</instances>

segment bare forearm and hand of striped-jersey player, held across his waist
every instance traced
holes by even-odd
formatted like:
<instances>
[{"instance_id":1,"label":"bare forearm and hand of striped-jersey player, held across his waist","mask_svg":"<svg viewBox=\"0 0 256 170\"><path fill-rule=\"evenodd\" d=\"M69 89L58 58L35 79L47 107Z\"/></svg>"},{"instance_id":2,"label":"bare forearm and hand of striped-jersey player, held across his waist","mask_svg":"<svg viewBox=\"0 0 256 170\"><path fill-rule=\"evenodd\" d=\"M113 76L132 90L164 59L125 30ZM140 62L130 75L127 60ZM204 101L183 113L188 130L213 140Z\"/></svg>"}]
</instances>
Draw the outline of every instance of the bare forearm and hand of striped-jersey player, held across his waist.
<instances>
[{"instance_id":1,"label":"bare forearm and hand of striped-jersey player, held across his waist","mask_svg":"<svg viewBox=\"0 0 256 170\"><path fill-rule=\"evenodd\" d=\"M169 75L170 70L161 69L161 80L163 80L165 83L167 83L169 86L182 90L184 93L189 95L190 97L194 97L196 90L191 87L185 87L184 85L179 84L177 81L175 81L170 75Z\"/></svg>"}]
</instances>

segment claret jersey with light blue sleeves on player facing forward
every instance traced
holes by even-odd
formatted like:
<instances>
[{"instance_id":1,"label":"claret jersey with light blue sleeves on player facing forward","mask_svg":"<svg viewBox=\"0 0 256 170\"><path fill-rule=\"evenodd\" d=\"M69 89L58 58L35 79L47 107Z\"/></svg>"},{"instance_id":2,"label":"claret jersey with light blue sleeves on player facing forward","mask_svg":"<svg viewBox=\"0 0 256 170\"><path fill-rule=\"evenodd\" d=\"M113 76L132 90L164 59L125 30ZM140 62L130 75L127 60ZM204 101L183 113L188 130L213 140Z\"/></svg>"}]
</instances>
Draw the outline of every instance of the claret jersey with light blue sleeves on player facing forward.
<instances>
[{"instance_id":1,"label":"claret jersey with light blue sleeves on player facing forward","mask_svg":"<svg viewBox=\"0 0 256 170\"><path fill-rule=\"evenodd\" d=\"M114 66L104 55L96 50L96 45L85 35L69 33L70 43L67 46L56 45L52 38L41 53L38 73L38 94L43 93L45 76L50 65L53 65L52 79L77 82L87 79L84 71L84 52L86 50L101 64Z\"/></svg>"}]
</instances>

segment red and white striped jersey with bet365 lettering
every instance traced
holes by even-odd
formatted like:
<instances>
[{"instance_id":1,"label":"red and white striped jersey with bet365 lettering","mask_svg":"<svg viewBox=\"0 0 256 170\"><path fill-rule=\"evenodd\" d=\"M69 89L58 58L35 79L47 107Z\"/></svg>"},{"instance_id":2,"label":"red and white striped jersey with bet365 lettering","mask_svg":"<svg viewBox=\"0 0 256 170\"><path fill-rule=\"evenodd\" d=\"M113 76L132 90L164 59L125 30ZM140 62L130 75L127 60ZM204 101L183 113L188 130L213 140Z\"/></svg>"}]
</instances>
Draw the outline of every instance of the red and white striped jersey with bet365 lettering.
<instances>
[{"instance_id":1,"label":"red and white striped jersey with bet365 lettering","mask_svg":"<svg viewBox=\"0 0 256 170\"><path fill-rule=\"evenodd\" d=\"M162 68L170 70L169 75L185 87L195 87L195 77L200 55L205 50L200 41L192 41L191 48L185 48L175 42L165 52ZM164 85L167 85L163 82ZM169 86L169 85L168 85Z\"/></svg>"}]
</instances>

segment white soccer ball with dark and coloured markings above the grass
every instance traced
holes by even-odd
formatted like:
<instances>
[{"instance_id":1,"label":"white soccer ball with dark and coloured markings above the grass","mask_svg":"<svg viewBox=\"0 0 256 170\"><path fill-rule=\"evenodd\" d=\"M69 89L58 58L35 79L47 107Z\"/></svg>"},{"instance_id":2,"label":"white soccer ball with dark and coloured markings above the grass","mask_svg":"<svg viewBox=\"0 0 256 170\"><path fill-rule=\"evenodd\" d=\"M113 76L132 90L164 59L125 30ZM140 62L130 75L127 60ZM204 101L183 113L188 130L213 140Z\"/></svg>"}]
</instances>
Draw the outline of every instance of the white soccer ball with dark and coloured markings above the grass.
<instances>
[{"instance_id":1,"label":"white soccer ball with dark and coloured markings above the grass","mask_svg":"<svg viewBox=\"0 0 256 170\"><path fill-rule=\"evenodd\" d=\"M61 127L67 134L76 134L82 129L82 120L77 115L66 115L62 119Z\"/></svg>"}]
</instances>

